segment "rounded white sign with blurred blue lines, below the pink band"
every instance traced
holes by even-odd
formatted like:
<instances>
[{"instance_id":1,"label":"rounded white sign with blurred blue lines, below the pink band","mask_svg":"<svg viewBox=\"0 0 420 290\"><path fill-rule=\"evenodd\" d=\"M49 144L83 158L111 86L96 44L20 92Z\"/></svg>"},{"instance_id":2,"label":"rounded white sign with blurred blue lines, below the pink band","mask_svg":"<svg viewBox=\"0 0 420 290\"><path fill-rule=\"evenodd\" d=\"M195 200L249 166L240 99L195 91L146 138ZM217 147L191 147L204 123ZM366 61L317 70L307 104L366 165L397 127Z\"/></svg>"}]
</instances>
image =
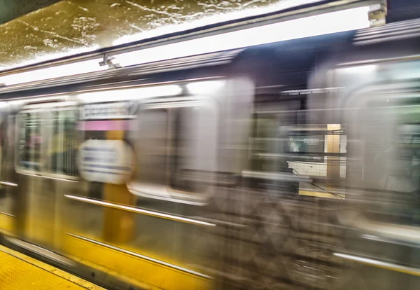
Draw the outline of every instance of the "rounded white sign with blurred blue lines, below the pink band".
<instances>
[{"instance_id":1,"label":"rounded white sign with blurred blue lines, below the pink band","mask_svg":"<svg viewBox=\"0 0 420 290\"><path fill-rule=\"evenodd\" d=\"M134 152L125 141L87 140L80 145L78 169L87 181L125 184L134 167Z\"/></svg>"}]
</instances>

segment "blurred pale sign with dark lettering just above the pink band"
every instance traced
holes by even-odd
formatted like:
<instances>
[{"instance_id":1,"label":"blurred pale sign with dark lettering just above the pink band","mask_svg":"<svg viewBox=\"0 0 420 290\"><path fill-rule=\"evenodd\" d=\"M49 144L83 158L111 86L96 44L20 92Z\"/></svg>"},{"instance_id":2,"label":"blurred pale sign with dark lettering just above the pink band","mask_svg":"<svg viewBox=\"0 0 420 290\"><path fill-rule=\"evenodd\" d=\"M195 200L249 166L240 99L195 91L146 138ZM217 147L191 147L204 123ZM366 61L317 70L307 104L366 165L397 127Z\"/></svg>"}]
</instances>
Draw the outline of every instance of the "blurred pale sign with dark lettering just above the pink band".
<instances>
[{"instance_id":1,"label":"blurred pale sign with dark lettering just above the pink band","mask_svg":"<svg viewBox=\"0 0 420 290\"><path fill-rule=\"evenodd\" d=\"M80 107L80 118L83 120L128 119L134 118L136 111L136 102L86 104Z\"/></svg>"}]
</instances>

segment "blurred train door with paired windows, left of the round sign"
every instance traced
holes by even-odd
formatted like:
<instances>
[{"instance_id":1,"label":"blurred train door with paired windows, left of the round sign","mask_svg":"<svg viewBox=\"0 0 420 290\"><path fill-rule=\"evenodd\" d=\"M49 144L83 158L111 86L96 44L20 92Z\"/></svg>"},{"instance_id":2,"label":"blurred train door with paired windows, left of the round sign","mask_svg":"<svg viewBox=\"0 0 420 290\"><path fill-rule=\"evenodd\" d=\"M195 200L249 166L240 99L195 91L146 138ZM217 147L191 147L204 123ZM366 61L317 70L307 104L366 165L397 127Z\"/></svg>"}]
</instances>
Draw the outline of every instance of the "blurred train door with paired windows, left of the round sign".
<instances>
[{"instance_id":1,"label":"blurred train door with paired windows, left of the round sign","mask_svg":"<svg viewBox=\"0 0 420 290\"><path fill-rule=\"evenodd\" d=\"M69 102L29 104L16 116L15 170L24 207L20 237L58 250L64 193L78 183L74 135L77 110Z\"/></svg>"}]
</instances>

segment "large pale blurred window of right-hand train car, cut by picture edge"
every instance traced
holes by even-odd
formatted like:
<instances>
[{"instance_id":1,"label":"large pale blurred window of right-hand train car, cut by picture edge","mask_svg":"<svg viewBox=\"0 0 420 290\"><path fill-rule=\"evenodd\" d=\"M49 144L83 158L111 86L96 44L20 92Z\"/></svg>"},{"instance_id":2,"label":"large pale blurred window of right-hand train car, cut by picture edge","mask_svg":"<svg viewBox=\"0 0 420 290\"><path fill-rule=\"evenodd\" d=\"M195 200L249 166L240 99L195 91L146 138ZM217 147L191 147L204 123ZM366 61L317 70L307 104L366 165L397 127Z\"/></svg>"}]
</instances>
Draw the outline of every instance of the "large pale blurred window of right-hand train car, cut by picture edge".
<instances>
[{"instance_id":1,"label":"large pale blurred window of right-hand train car, cut by picture edge","mask_svg":"<svg viewBox=\"0 0 420 290\"><path fill-rule=\"evenodd\" d=\"M349 137L360 145L350 157L360 165L348 167L349 182L360 186L369 205L360 209L370 221L418 226L420 97L409 91L411 84L399 91L401 85L392 93L381 87L354 96L358 109L349 115Z\"/></svg>"}]
</instances>

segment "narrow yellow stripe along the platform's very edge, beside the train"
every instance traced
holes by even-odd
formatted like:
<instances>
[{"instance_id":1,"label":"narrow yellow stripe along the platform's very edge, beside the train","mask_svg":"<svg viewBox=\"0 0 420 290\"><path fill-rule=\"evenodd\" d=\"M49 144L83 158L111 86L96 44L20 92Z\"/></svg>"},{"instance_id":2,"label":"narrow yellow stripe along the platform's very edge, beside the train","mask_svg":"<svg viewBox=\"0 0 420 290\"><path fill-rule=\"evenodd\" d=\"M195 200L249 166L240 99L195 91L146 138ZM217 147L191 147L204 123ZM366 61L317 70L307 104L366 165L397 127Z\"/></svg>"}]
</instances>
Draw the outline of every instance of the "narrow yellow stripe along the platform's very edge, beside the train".
<instances>
[{"instance_id":1,"label":"narrow yellow stripe along the platform's very edge, beside the train","mask_svg":"<svg viewBox=\"0 0 420 290\"><path fill-rule=\"evenodd\" d=\"M9 249L7 247L0 245L0 251L3 253L9 254L10 256L14 256L15 258L18 258L22 261L25 261L26 263L29 263L31 265L34 265L38 268L41 268L47 272L50 272L52 275L57 275L58 277L61 277L62 279L66 279L67 281L76 284L80 287L83 287L85 289L90 290L103 290L105 288L102 288L101 286L98 286L96 284L93 284L91 282L88 282L84 279L81 279L79 277L76 277L74 275L71 275L69 272L65 272L63 270L59 270L58 268L53 267L52 265L48 265L47 263L43 263L41 261L36 260L35 258L31 258L25 254L22 254L18 251L14 251L13 249Z\"/></svg>"}]
</instances>

